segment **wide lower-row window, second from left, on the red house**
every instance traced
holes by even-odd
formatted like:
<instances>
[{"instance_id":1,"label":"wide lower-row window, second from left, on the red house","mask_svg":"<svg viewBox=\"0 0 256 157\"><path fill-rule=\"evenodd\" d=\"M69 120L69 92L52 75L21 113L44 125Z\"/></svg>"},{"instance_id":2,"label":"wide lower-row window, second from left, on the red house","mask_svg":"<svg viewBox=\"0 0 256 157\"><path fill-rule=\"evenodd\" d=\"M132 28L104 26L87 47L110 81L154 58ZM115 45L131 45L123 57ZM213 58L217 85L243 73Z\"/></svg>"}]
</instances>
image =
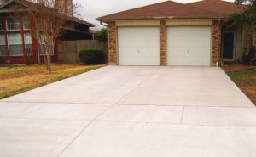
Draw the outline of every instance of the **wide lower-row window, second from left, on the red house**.
<instances>
[{"instance_id":1,"label":"wide lower-row window, second from left, on the red house","mask_svg":"<svg viewBox=\"0 0 256 157\"><path fill-rule=\"evenodd\" d=\"M20 33L8 35L9 55L20 56L23 55L22 40Z\"/></svg>"}]
</instances>

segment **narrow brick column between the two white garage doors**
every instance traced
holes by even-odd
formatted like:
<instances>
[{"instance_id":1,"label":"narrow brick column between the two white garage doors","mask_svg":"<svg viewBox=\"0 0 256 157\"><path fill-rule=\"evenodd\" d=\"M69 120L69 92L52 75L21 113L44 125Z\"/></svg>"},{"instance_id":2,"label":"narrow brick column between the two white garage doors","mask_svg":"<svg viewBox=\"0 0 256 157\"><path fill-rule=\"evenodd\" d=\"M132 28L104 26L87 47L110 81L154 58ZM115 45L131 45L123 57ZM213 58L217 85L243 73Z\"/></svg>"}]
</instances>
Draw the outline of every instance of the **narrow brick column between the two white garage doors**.
<instances>
[{"instance_id":1,"label":"narrow brick column between the two white garage doors","mask_svg":"<svg viewBox=\"0 0 256 157\"><path fill-rule=\"evenodd\" d=\"M166 66L166 21L160 21L160 65Z\"/></svg>"}]
</instances>

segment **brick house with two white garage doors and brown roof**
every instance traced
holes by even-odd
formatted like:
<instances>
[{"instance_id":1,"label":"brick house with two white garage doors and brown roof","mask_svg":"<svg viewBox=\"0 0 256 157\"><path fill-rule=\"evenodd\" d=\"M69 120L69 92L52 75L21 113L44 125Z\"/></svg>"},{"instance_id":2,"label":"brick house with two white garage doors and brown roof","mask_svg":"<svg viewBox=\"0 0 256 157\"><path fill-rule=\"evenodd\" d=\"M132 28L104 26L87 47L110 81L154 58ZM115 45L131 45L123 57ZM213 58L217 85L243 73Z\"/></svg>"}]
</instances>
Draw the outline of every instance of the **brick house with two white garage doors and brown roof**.
<instances>
[{"instance_id":1,"label":"brick house with two white garage doors and brown roof","mask_svg":"<svg viewBox=\"0 0 256 157\"><path fill-rule=\"evenodd\" d=\"M166 1L98 18L108 24L108 61L118 65L215 66L256 44L248 28L224 26L235 3Z\"/></svg>"}]
</instances>

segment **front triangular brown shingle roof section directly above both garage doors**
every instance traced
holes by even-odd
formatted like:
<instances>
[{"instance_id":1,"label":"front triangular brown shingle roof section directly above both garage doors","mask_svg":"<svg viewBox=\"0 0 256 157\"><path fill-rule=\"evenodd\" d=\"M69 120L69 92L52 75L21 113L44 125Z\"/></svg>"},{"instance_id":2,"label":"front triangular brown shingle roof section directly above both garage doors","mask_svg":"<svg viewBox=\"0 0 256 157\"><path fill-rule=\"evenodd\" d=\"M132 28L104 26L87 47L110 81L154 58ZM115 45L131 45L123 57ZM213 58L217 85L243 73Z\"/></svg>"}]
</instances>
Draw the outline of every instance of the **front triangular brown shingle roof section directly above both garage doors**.
<instances>
[{"instance_id":1,"label":"front triangular brown shingle roof section directly above both garage doors","mask_svg":"<svg viewBox=\"0 0 256 157\"><path fill-rule=\"evenodd\" d=\"M109 14L97 20L129 20L129 19L157 19L157 18L218 18L218 14L194 8L183 3L166 1L141 8Z\"/></svg>"}]
</instances>

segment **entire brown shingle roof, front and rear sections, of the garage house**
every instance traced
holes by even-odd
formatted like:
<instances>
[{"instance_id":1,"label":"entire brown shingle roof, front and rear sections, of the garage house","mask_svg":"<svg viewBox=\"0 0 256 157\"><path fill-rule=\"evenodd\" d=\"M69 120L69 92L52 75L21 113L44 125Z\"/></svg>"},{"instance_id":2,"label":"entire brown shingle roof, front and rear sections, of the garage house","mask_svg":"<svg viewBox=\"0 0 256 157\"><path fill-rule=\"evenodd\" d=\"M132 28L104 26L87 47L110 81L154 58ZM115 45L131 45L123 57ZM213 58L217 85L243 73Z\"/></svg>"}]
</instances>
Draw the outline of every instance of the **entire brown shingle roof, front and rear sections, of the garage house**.
<instances>
[{"instance_id":1,"label":"entire brown shingle roof, front and rear sections, of the garage house","mask_svg":"<svg viewBox=\"0 0 256 157\"><path fill-rule=\"evenodd\" d=\"M133 8L116 14L108 14L96 20L215 19L223 18L224 14L232 14L237 11L238 7L235 3L228 3L221 0L205 0L189 4L166 1L141 8Z\"/></svg>"}]
</instances>

